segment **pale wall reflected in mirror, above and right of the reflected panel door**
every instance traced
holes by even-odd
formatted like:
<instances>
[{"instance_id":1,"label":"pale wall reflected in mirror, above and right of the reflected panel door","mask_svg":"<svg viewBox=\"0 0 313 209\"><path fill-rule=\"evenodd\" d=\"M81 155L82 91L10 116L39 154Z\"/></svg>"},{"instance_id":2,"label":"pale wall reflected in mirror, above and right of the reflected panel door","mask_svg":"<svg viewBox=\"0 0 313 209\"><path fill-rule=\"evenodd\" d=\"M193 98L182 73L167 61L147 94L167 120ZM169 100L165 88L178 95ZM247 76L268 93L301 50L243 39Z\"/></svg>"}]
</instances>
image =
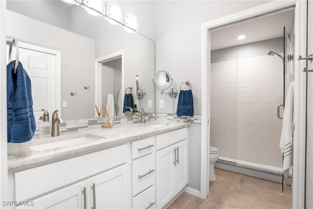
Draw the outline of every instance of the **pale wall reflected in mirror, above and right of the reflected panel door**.
<instances>
[{"instance_id":1,"label":"pale wall reflected in mirror, above and right of the reflected panel door","mask_svg":"<svg viewBox=\"0 0 313 209\"><path fill-rule=\"evenodd\" d=\"M61 101L67 101L61 116L64 119L92 118L94 40L9 10L6 23L7 36L61 51ZM90 89L85 90L84 86ZM71 96L71 92L76 95Z\"/></svg>"}]
</instances>

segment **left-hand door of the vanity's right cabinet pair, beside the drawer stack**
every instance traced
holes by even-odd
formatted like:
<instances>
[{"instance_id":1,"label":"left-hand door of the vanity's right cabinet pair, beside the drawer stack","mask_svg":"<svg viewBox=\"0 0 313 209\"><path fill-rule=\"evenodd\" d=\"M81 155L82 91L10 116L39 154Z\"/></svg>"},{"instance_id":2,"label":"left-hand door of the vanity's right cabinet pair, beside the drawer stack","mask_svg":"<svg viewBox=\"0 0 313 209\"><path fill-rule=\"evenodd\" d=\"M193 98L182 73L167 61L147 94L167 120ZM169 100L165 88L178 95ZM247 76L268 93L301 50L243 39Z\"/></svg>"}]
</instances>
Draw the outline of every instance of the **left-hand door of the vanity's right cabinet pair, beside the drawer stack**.
<instances>
[{"instance_id":1,"label":"left-hand door of the vanity's right cabinet pair, beside the drawer stack","mask_svg":"<svg viewBox=\"0 0 313 209\"><path fill-rule=\"evenodd\" d=\"M156 208L162 208L174 195L173 146L156 152Z\"/></svg>"}]
</instances>

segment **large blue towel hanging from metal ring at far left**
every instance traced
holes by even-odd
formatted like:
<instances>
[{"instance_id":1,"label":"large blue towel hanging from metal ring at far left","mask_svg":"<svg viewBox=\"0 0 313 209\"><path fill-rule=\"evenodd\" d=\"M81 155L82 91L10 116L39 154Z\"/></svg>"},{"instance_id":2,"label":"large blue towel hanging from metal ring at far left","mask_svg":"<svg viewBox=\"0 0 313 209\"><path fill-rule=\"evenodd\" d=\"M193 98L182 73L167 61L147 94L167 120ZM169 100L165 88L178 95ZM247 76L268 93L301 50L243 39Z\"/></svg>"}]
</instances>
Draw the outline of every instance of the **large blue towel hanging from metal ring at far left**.
<instances>
[{"instance_id":1,"label":"large blue towel hanging from metal ring at far left","mask_svg":"<svg viewBox=\"0 0 313 209\"><path fill-rule=\"evenodd\" d=\"M33 138L36 130L33 115L31 82L22 63L14 74L15 61L6 66L7 141L21 143Z\"/></svg>"}]
</instances>

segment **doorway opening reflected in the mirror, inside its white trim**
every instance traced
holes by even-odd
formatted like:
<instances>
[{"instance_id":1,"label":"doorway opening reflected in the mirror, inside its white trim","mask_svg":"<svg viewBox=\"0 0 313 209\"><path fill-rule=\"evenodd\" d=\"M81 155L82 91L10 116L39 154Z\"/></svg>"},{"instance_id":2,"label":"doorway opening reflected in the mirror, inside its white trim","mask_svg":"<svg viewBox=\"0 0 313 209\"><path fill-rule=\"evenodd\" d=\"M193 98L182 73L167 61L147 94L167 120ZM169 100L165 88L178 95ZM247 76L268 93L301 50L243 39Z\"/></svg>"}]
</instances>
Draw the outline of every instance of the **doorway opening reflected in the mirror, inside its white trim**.
<instances>
[{"instance_id":1,"label":"doorway opening reflected in the mirror, inside its white trim","mask_svg":"<svg viewBox=\"0 0 313 209\"><path fill-rule=\"evenodd\" d=\"M111 96L108 98L109 94L113 99ZM110 104L110 116L122 115L122 96L122 58L115 58L102 63L102 104ZM104 111L102 116L105 116Z\"/></svg>"}]
</instances>

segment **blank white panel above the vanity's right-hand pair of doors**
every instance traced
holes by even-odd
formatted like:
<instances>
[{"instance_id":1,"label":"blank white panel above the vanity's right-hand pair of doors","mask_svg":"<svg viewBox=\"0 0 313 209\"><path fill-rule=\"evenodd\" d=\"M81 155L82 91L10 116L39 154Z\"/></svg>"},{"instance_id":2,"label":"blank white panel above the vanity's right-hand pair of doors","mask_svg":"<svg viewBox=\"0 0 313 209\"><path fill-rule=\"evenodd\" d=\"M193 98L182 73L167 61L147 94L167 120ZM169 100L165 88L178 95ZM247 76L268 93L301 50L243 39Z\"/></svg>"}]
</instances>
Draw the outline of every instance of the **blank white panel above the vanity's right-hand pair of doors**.
<instances>
[{"instance_id":1,"label":"blank white panel above the vanity's right-hand pair of doors","mask_svg":"<svg viewBox=\"0 0 313 209\"><path fill-rule=\"evenodd\" d=\"M182 128L156 136L156 150L188 138L188 129Z\"/></svg>"}]
</instances>

